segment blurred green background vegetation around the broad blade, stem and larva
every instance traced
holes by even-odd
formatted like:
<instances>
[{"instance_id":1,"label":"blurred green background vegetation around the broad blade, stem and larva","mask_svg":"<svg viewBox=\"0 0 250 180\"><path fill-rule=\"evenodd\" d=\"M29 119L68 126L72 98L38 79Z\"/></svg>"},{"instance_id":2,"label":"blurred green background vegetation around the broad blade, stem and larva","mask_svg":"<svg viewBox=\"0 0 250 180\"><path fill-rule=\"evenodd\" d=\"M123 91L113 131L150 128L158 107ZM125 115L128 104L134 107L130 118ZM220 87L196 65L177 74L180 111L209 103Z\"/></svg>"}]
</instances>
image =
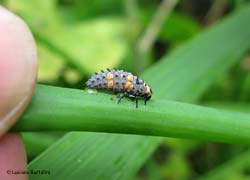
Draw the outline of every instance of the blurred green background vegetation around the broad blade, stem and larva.
<instances>
[{"instance_id":1,"label":"blurred green background vegetation around the broad blade, stem and larva","mask_svg":"<svg viewBox=\"0 0 250 180\"><path fill-rule=\"evenodd\" d=\"M249 1L172 1L169 14L160 0L0 2L22 17L34 34L39 56L38 82L84 89L88 77L101 69L121 68L140 75L173 49ZM159 11L163 12L162 21L157 16ZM152 22L157 17L159 23L153 24L157 26L154 27ZM159 32L147 39L147 30L152 27ZM143 46L145 42L148 47ZM248 52L206 90L199 103L248 112L249 101ZM23 133L29 161L63 134ZM199 178L249 179L249 147L166 138L135 177L138 180Z\"/></svg>"}]
</instances>

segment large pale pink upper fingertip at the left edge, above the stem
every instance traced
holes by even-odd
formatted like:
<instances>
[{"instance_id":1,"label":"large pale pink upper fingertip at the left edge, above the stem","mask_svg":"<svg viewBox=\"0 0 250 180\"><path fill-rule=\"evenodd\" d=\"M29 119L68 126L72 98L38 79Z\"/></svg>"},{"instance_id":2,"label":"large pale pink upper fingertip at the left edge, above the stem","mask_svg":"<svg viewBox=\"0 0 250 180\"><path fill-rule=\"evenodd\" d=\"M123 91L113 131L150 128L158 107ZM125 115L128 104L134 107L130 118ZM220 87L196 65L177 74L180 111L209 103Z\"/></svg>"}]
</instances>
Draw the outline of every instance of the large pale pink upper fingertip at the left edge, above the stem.
<instances>
[{"instance_id":1,"label":"large pale pink upper fingertip at the left edge, above the stem","mask_svg":"<svg viewBox=\"0 0 250 180\"><path fill-rule=\"evenodd\" d=\"M0 7L0 136L24 111L36 82L37 52L27 25Z\"/></svg>"}]
</instances>

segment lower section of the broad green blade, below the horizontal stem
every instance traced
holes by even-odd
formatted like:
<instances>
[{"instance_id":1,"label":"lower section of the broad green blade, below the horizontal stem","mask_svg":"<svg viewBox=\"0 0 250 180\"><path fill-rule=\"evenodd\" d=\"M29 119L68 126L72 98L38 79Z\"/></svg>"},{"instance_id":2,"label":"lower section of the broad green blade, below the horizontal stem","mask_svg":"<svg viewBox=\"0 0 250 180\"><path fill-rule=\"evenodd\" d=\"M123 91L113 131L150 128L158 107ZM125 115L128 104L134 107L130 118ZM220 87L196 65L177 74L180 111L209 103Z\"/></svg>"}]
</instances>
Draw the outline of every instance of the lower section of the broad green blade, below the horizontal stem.
<instances>
[{"instance_id":1,"label":"lower section of the broad green blade, below the horizontal stem","mask_svg":"<svg viewBox=\"0 0 250 180\"><path fill-rule=\"evenodd\" d=\"M158 141L135 135L119 135L119 140L117 137L106 133L68 133L53 146L53 152L45 152L46 158L35 159L29 165L30 169L49 168L51 175L31 175L31 179L130 179L136 172L136 168L131 167L140 166L143 163L140 156L147 156ZM124 151L127 147L138 150ZM64 162L59 163L62 154Z\"/></svg>"}]
</instances>

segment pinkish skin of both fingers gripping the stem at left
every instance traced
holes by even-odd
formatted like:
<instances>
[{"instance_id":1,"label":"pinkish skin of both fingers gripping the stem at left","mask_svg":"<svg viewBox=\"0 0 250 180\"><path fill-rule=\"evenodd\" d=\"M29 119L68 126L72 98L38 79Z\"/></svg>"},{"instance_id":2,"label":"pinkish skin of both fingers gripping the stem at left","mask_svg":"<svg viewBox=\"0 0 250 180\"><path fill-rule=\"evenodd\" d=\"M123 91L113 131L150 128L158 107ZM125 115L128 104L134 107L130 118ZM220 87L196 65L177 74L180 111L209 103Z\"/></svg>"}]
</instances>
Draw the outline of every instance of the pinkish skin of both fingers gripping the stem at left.
<instances>
[{"instance_id":1,"label":"pinkish skin of both fingers gripping the stem at left","mask_svg":"<svg viewBox=\"0 0 250 180\"><path fill-rule=\"evenodd\" d=\"M27 179L7 170L26 170L19 134L7 133L27 107L34 91L37 54L25 23L0 6L0 179Z\"/></svg>"}]
</instances>

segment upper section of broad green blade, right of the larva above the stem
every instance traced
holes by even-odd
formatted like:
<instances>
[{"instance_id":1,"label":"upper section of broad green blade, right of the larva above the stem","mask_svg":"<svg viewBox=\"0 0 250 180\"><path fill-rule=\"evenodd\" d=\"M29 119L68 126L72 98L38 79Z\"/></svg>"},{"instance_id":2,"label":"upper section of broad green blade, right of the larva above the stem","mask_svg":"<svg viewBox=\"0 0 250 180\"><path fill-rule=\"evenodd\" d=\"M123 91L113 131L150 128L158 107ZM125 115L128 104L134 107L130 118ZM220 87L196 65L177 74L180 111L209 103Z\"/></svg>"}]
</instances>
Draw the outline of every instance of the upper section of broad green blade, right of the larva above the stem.
<instances>
[{"instance_id":1,"label":"upper section of broad green blade, right of the larva above the stem","mask_svg":"<svg viewBox=\"0 0 250 180\"><path fill-rule=\"evenodd\" d=\"M211 27L150 68L143 77L149 79L154 95L197 100L198 94L249 49L249 11L246 7Z\"/></svg>"}]
</instances>

